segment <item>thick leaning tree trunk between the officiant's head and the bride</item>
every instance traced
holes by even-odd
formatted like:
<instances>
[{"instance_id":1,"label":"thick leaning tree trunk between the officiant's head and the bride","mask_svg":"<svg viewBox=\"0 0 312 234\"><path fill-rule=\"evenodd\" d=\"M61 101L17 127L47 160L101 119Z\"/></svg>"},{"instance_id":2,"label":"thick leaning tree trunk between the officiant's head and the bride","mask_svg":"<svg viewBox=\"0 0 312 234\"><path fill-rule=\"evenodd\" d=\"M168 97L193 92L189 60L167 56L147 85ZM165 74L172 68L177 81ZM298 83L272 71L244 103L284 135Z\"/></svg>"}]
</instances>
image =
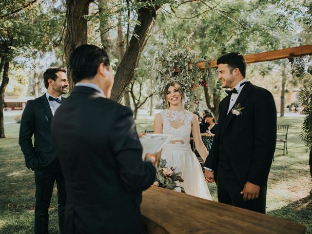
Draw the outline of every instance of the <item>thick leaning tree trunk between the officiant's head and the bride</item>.
<instances>
[{"instance_id":1,"label":"thick leaning tree trunk between the officiant's head and the bride","mask_svg":"<svg viewBox=\"0 0 312 234\"><path fill-rule=\"evenodd\" d=\"M140 59L140 53L147 41L147 35L151 32L154 26L153 20L156 19L158 9L159 7L157 7L157 9L152 7L142 7L138 10L137 20L140 24L137 24L134 29L129 47L126 50L115 75L112 99L118 102L121 100L126 87L134 76L134 71L137 68Z\"/></svg>"}]
</instances>

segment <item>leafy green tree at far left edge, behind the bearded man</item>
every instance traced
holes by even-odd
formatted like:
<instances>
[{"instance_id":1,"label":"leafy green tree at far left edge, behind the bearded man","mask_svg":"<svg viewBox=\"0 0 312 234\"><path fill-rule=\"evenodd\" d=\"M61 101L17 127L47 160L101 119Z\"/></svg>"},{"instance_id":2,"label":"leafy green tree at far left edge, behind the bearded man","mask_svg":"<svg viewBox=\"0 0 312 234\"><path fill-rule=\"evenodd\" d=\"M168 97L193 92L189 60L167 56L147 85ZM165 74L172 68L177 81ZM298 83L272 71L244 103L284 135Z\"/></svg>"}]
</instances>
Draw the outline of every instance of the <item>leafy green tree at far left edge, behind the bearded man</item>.
<instances>
[{"instance_id":1,"label":"leafy green tree at far left edge, behind the bearded man","mask_svg":"<svg viewBox=\"0 0 312 234\"><path fill-rule=\"evenodd\" d=\"M53 17L53 9L42 10L36 0L25 3L23 0L0 2L0 137L4 137L3 105L4 92L9 82L9 69L19 55L34 50L47 50L52 47L52 39L59 33L60 17ZM60 23L61 24L61 23ZM29 54L28 54L29 55ZM14 62L14 63L13 63Z\"/></svg>"}]
</instances>

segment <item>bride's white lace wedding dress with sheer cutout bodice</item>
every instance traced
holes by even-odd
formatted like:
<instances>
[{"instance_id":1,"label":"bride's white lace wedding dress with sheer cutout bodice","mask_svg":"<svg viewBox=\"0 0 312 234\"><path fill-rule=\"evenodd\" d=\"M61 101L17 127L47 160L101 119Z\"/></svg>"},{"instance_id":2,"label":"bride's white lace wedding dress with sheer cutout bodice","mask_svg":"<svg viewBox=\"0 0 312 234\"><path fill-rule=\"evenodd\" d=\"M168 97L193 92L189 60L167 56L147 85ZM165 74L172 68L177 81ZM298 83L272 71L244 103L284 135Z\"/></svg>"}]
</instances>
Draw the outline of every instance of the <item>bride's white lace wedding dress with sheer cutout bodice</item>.
<instances>
[{"instance_id":1,"label":"bride's white lace wedding dress with sheer cutout bodice","mask_svg":"<svg viewBox=\"0 0 312 234\"><path fill-rule=\"evenodd\" d=\"M182 187L187 194L212 200L200 163L190 145L193 113L166 109L160 112L160 115L163 119L162 133L173 135L170 141L178 141L166 143L161 151L161 158L166 159L167 167L174 167L175 172L182 172ZM174 128L172 122L183 125Z\"/></svg>"}]
</instances>

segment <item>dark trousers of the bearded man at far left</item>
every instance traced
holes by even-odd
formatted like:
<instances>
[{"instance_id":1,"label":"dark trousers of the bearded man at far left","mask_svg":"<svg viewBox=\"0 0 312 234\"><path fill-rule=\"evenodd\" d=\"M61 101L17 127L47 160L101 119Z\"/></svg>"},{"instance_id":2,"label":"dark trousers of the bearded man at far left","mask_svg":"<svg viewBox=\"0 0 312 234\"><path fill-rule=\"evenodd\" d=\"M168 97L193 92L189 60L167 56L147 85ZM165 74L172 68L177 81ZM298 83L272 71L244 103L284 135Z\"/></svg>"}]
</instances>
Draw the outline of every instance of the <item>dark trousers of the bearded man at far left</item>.
<instances>
[{"instance_id":1,"label":"dark trousers of the bearded man at far left","mask_svg":"<svg viewBox=\"0 0 312 234\"><path fill-rule=\"evenodd\" d=\"M58 189L59 231L65 233L65 204L66 190L64 177L58 165L53 170L39 171L35 169L36 205L35 205L35 234L48 234L51 196L54 182Z\"/></svg>"}]
</instances>

